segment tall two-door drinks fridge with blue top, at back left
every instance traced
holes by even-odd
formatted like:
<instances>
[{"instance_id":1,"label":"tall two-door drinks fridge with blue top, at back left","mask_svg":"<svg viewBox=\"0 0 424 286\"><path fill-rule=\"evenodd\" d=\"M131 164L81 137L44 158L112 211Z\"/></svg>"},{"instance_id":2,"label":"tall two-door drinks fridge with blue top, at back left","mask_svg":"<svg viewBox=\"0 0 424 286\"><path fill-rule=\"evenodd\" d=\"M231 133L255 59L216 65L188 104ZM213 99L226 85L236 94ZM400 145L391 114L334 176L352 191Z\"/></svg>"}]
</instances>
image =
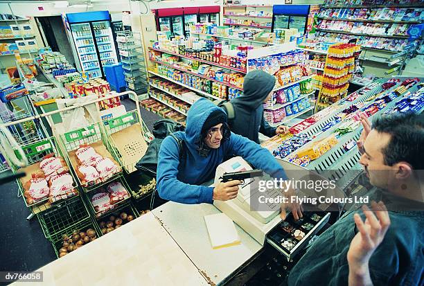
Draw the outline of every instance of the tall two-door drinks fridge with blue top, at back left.
<instances>
[{"instance_id":1,"label":"tall two-door drinks fridge with blue top, at back left","mask_svg":"<svg viewBox=\"0 0 424 286\"><path fill-rule=\"evenodd\" d=\"M103 66L118 62L109 12L68 13L62 19L77 69L103 78Z\"/></svg>"}]
</instances>

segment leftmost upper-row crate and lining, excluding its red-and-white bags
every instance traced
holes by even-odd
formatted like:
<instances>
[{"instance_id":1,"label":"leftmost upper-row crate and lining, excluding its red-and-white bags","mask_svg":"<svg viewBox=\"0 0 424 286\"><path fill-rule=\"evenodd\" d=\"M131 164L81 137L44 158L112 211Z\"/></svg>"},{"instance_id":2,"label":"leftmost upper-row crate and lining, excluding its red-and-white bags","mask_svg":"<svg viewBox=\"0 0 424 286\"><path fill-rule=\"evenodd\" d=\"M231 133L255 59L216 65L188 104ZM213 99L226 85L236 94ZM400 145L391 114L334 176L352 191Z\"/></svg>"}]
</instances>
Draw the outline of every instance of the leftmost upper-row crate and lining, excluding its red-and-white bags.
<instances>
[{"instance_id":1,"label":"leftmost upper-row crate and lining, excluding its red-and-white bags","mask_svg":"<svg viewBox=\"0 0 424 286\"><path fill-rule=\"evenodd\" d=\"M76 177L73 176L71 169L69 168L70 163L67 160L67 157L63 156L62 150L58 148L58 144L55 141L54 137L49 137L40 141L37 141L35 143L30 143L27 145L21 145L22 150L25 153L26 158L28 159L28 166L24 168L20 168L19 166L16 166L12 161L10 161L10 168L12 169L12 172L25 172L26 175L24 177L21 177L17 179L17 184L19 188L19 193L24 197L24 202L30 210L36 214L40 213L42 211L45 211L46 209L51 207L51 204L60 202L63 199L67 199L69 197L74 197L78 195L78 188L77 188L77 180ZM15 154L18 159L21 158L19 152L17 150L14 150ZM40 199L36 202L31 202L30 199L25 199L25 190L24 185L26 182L31 179L31 175L35 174L37 172L42 173L42 170L39 168L39 163L42 161L43 157L53 153L55 157L63 157L64 163L69 168L69 174L72 176L73 179L73 189L68 191L67 193L58 195L58 196L51 196L48 195L44 199Z\"/></svg>"}]
</instances>

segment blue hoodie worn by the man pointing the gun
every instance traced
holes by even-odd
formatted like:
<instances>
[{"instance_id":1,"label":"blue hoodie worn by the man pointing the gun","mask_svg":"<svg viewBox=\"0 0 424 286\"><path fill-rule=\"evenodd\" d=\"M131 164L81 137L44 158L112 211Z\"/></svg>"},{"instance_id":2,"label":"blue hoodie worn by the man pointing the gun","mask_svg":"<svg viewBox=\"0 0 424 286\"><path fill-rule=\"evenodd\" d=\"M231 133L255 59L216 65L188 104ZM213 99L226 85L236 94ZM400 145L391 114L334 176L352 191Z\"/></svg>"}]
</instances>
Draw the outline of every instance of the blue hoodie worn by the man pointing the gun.
<instances>
[{"instance_id":1,"label":"blue hoodie worn by the man pointing the gun","mask_svg":"<svg viewBox=\"0 0 424 286\"><path fill-rule=\"evenodd\" d=\"M246 161L264 170L277 179L287 179L283 168L276 162L270 151L240 135L233 134L222 141L220 148L211 149L207 157L197 152L202 127L209 114L215 109L224 112L210 100L202 98L188 110L186 131L175 132L175 136L186 143L186 158L179 162L178 143L167 136L161 143L157 164L157 190L163 199L182 204L213 203L213 187L198 186L215 176L215 169L224 158L241 156Z\"/></svg>"}]
</instances>

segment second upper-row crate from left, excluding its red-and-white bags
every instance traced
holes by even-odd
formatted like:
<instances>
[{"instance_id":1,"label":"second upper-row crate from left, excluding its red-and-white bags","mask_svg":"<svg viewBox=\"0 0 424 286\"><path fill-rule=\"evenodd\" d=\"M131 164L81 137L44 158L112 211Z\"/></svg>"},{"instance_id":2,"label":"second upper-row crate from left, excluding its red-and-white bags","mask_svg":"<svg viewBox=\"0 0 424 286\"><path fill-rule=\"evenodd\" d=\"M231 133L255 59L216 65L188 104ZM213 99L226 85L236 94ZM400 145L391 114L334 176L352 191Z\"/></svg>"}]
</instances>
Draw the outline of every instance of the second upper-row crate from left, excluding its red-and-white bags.
<instances>
[{"instance_id":1,"label":"second upper-row crate from left, excluding its red-and-white bags","mask_svg":"<svg viewBox=\"0 0 424 286\"><path fill-rule=\"evenodd\" d=\"M107 184L107 182L116 179L122 175L122 168L118 162L116 162L116 157L114 157L114 152L109 152L107 143L107 138L103 134L100 128L99 123L95 123L86 128L80 128L73 130L71 132L64 133L60 135L60 139L62 141L62 148L66 150L67 156L73 168L73 171L76 174L78 182L82 189L85 192L89 192L90 190L94 190L99 186ZM80 145L90 145L92 148L96 150L100 156L103 158L111 159L116 166L118 166L116 172L107 175L102 179L96 179L95 181L83 182L80 177L77 175L78 170L78 160L76 157L76 150L80 148ZM112 154L111 154L112 153Z\"/></svg>"}]
</instances>

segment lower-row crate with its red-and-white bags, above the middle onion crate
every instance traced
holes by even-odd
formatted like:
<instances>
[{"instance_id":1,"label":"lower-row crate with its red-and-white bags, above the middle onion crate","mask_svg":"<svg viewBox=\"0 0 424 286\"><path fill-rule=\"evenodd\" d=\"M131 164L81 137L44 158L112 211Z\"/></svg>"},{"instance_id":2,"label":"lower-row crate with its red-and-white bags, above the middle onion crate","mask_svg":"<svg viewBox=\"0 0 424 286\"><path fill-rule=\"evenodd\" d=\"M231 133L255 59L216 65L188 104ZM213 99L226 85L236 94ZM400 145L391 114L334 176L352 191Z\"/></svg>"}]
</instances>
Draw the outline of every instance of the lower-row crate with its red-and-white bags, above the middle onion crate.
<instances>
[{"instance_id":1,"label":"lower-row crate with its red-and-white bags, above the middle onion crate","mask_svg":"<svg viewBox=\"0 0 424 286\"><path fill-rule=\"evenodd\" d=\"M124 177L118 177L107 184L85 193L89 212L100 219L131 204L130 187Z\"/></svg>"}]
</instances>

